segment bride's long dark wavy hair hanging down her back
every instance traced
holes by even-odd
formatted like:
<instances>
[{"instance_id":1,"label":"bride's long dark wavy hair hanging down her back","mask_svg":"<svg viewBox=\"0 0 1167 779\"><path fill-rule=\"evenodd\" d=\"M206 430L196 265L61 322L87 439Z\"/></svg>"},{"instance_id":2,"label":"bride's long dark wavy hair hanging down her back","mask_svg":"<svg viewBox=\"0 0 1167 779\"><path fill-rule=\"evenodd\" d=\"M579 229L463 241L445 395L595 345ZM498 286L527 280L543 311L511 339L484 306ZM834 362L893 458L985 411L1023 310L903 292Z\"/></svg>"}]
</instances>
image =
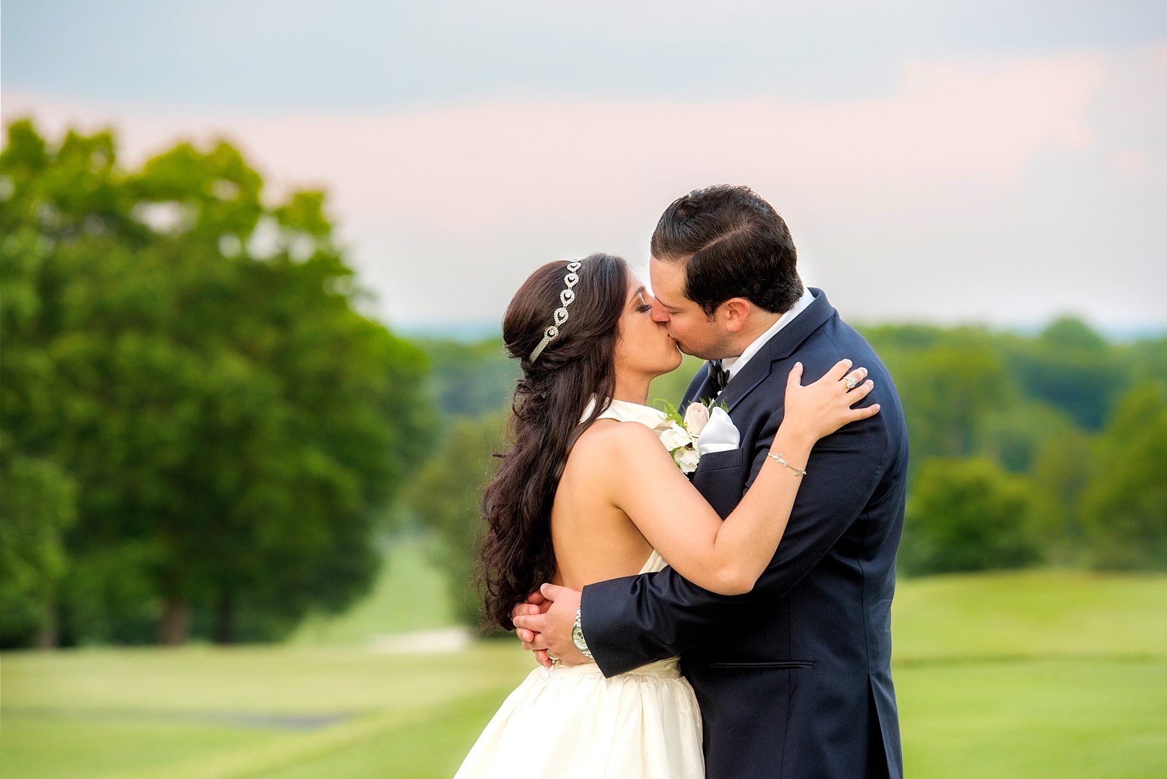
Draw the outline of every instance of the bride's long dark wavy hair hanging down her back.
<instances>
[{"instance_id":1,"label":"bride's long dark wavy hair hanging down her back","mask_svg":"<svg viewBox=\"0 0 1167 779\"><path fill-rule=\"evenodd\" d=\"M598 403L580 424L588 401L610 398L615 390L628 264L610 254L592 254L580 262L569 317L534 363L530 355L559 308L567 262L548 262L532 273L503 318L503 342L519 360L523 378L511 401L510 448L482 498L488 527L481 575L487 622L505 630L513 629L511 609L555 573L555 487L575 440L607 406Z\"/></svg>"}]
</instances>

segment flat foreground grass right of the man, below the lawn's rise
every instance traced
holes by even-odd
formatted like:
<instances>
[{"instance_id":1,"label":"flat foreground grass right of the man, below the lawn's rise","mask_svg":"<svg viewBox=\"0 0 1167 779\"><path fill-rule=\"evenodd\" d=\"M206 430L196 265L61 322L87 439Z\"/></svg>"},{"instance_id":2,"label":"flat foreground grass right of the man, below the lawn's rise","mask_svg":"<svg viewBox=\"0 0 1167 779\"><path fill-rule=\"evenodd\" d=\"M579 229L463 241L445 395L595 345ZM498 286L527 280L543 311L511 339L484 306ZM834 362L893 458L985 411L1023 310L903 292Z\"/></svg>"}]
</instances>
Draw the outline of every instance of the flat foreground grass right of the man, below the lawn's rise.
<instances>
[{"instance_id":1,"label":"flat foreground grass right of the man, below the lawn's rise","mask_svg":"<svg viewBox=\"0 0 1167 779\"><path fill-rule=\"evenodd\" d=\"M908 777L1167 777L1167 659L893 669Z\"/></svg>"}]
</instances>

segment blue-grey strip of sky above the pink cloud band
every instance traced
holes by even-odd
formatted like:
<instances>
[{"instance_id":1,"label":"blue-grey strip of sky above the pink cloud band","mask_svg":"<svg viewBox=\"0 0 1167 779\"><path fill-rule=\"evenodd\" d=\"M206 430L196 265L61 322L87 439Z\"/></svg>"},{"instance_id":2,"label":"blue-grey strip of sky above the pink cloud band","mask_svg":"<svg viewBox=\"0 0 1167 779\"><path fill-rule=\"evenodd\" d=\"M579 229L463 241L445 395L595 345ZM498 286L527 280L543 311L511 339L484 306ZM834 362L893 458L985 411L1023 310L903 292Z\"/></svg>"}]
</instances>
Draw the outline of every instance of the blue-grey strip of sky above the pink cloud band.
<instances>
[{"instance_id":1,"label":"blue-grey strip of sky above the pink cloud band","mask_svg":"<svg viewBox=\"0 0 1167 779\"><path fill-rule=\"evenodd\" d=\"M496 94L834 99L906 58L1121 45L1167 3L8 0L4 83L95 99L391 108Z\"/></svg>"}]
</instances>

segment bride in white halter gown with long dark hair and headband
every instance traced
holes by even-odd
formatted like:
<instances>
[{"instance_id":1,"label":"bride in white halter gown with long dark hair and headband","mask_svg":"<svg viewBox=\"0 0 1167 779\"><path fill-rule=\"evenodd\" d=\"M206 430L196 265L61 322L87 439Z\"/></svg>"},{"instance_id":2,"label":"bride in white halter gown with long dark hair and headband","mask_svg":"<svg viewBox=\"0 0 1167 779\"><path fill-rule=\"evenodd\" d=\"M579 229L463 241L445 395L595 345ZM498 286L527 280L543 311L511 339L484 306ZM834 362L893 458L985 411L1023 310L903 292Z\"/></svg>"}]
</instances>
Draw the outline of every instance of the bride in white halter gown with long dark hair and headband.
<instances>
[{"instance_id":1,"label":"bride in white halter gown with long dark hair and headband","mask_svg":"<svg viewBox=\"0 0 1167 779\"><path fill-rule=\"evenodd\" d=\"M808 386L796 365L771 456L722 521L669 454L683 431L645 405L649 383L682 360L651 306L624 260L592 254L543 266L506 309L503 339L523 378L513 443L483 498L495 626L512 629L511 609L543 582L582 590L672 566L707 590L748 592L782 539L811 447L879 410L851 408L872 383L848 392L845 379L866 377L845 376L850 360ZM594 662L536 668L455 779L515 776L701 779L701 716L678 661L610 679Z\"/></svg>"}]
</instances>

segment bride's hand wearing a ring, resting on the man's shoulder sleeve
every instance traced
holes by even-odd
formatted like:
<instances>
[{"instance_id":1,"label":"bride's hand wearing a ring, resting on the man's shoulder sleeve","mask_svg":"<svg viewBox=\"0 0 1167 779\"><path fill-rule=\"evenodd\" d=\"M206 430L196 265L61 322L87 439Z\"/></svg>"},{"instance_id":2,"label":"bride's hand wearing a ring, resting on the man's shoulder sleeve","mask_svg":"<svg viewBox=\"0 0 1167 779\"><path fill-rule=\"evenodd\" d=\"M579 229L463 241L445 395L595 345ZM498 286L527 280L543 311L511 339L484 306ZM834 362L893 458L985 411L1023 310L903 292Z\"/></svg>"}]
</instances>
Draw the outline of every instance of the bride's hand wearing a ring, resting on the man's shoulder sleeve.
<instances>
[{"instance_id":1,"label":"bride's hand wearing a ring, resting on the man's shoulder sleeve","mask_svg":"<svg viewBox=\"0 0 1167 779\"><path fill-rule=\"evenodd\" d=\"M803 364L795 363L787 378L787 398L782 427L788 434L804 437L813 444L844 424L874 416L879 403L852 408L874 388L867 369L851 370L852 362L841 359L818 381L802 384ZM850 372L848 372L850 371Z\"/></svg>"}]
</instances>

